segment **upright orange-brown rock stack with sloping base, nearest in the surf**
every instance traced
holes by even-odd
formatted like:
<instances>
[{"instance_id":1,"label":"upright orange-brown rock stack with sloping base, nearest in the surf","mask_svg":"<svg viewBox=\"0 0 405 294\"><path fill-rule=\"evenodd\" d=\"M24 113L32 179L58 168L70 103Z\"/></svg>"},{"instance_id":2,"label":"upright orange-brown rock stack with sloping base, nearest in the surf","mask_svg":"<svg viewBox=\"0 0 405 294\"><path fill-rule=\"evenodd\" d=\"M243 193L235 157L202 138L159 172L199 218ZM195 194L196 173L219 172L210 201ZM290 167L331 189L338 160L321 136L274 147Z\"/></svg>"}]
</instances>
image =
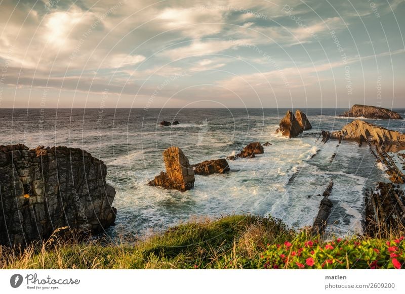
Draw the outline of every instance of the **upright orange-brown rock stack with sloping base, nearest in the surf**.
<instances>
[{"instance_id":1,"label":"upright orange-brown rock stack with sloping base, nearest in the surf","mask_svg":"<svg viewBox=\"0 0 405 294\"><path fill-rule=\"evenodd\" d=\"M186 191L194 187L194 170L183 151L170 147L163 152L166 172L160 172L148 185Z\"/></svg>"}]
</instances>

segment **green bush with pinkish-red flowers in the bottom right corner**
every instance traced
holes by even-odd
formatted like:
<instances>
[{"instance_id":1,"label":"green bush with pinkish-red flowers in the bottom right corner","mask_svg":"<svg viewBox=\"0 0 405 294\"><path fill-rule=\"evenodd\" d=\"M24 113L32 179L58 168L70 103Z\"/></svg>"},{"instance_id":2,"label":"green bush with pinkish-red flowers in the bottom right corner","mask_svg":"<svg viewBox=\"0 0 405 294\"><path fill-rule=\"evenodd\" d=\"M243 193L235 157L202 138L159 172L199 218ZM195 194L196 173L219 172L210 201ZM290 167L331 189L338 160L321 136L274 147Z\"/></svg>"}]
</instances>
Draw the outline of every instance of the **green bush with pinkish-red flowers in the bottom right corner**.
<instances>
[{"instance_id":1,"label":"green bush with pinkish-red flowers in the bottom right corner","mask_svg":"<svg viewBox=\"0 0 405 294\"><path fill-rule=\"evenodd\" d=\"M302 233L284 244L268 244L261 265L267 269L400 269L405 268L405 240L354 237L319 243Z\"/></svg>"}]
</instances>

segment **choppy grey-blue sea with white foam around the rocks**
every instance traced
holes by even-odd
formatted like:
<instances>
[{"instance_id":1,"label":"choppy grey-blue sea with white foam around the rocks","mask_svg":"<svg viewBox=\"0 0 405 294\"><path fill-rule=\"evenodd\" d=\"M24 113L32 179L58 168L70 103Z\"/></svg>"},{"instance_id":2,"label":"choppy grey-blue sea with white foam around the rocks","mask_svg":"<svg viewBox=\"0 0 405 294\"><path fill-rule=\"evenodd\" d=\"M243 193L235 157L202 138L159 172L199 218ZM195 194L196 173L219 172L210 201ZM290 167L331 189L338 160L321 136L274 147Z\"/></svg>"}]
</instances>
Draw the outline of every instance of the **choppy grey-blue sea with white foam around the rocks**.
<instances>
[{"instance_id":1,"label":"choppy grey-blue sea with white foam around the rocks","mask_svg":"<svg viewBox=\"0 0 405 294\"><path fill-rule=\"evenodd\" d=\"M321 130L339 130L345 109L301 109L312 129L288 139L275 134L287 109L0 109L0 144L66 145L82 148L107 165L115 187L116 226L110 235L142 236L181 221L252 213L281 218L294 227L311 225L331 179L334 206L328 232L361 232L363 194L388 178L369 147L318 139ZM403 113L404 109L397 109ZM179 125L160 127L162 120ZM404 121L368 120L405 131ZM254 159L230 161L224 175L196 175L186 192L150 187L164 171L162 152L179 146L191 164L224 158L252 141L271 146ZM332 161L332 155L336 153Z\"/></svg>"}]
</instances>

